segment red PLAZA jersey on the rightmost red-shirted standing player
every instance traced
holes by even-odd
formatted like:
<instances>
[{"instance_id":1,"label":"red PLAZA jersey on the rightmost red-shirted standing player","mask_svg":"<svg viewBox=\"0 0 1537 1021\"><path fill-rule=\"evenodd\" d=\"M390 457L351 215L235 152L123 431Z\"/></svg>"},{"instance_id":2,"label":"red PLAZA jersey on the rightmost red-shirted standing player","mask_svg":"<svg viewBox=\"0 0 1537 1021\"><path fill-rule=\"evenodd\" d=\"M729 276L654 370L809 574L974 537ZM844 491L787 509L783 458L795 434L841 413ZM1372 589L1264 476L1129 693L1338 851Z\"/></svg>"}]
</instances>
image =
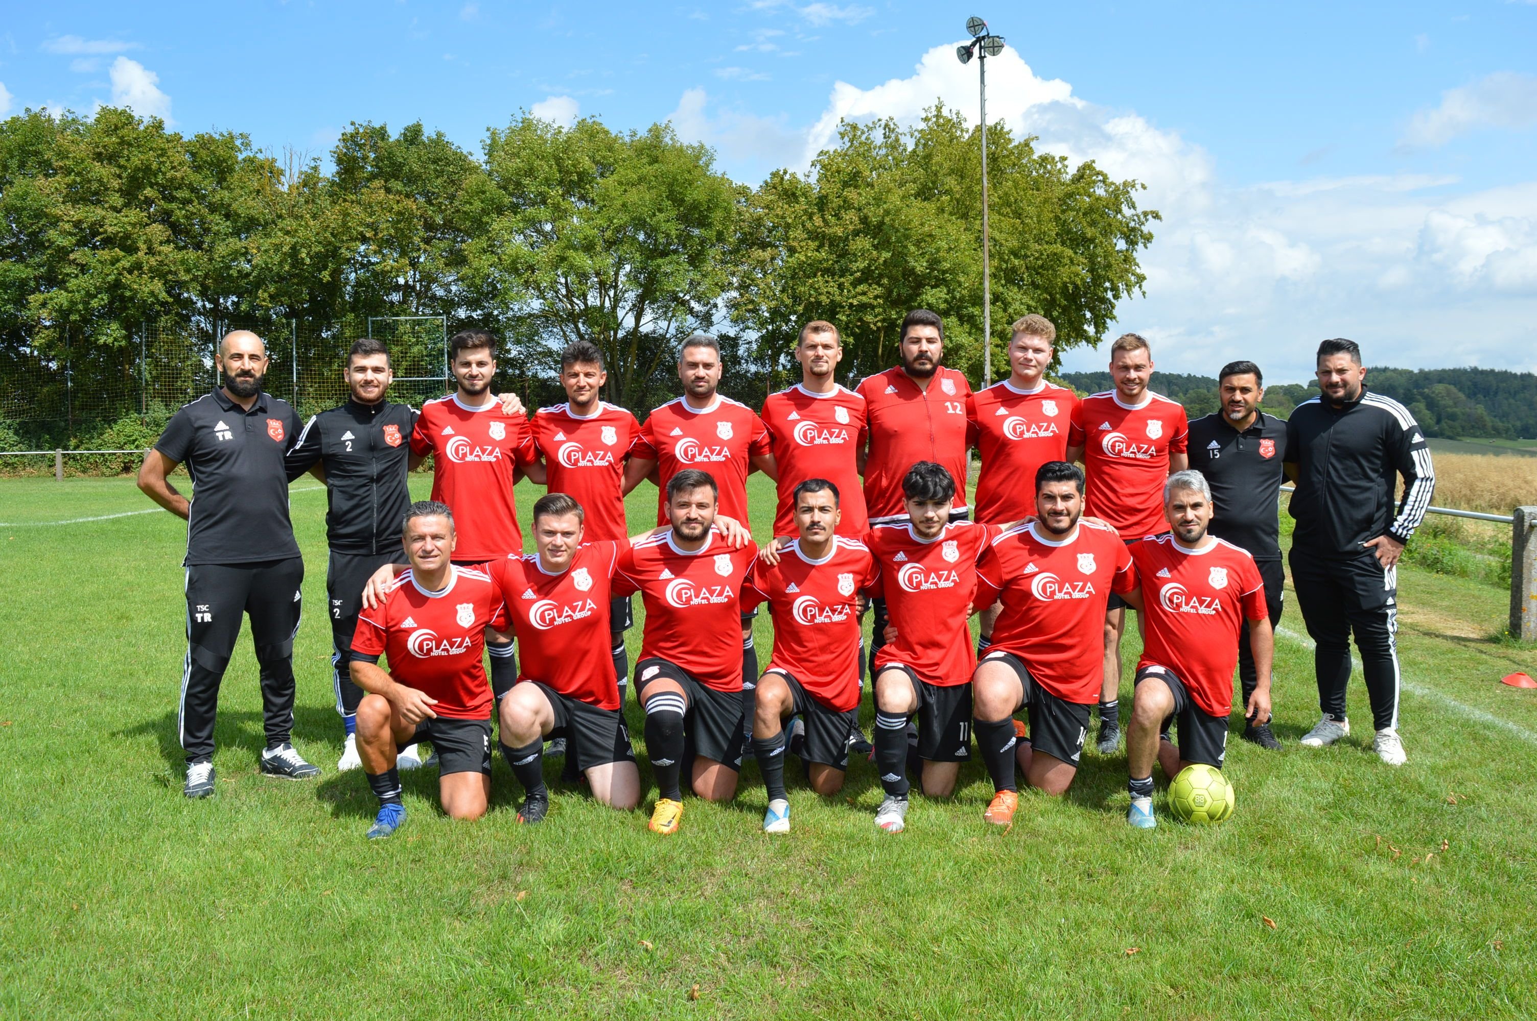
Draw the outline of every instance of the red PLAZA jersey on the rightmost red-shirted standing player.
<instances>
[{"instance_id":1,"label":"red PLAZA jersey on the rightmost red-shirted standing player","mask_svg":"<svg viewBox=\"0 0 1537 1021\"><path fill-rule=\"evenodd\" d=\"M1122 404L1114 390L1084 398L1067 439L1084 447L1084 513L1110 522L1125 540L1168 531L1168 456L1185 453L1188 431L1183 405L1151 392L1137 407Z\"/></svg>"}]
</instances>

